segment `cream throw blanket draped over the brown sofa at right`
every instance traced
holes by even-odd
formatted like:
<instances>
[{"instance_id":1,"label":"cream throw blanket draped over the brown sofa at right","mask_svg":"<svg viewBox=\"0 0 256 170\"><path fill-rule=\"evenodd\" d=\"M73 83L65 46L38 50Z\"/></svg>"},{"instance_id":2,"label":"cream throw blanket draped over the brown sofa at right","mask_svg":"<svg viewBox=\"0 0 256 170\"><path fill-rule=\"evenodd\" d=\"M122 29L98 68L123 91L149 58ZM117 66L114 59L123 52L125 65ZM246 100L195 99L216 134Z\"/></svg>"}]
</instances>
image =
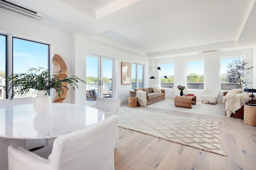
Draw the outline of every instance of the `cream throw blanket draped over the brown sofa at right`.
<instances>
[{"instance_id":1,"label":"cream throw blanket draped over the brown sofa at right","mask_svg":"<svg viewBox=\"0 0 256 170\"><path fill-rule=\"evenodd\" d=\"M226 117L230 117L231 113L236 112L236 110L240 109L246 102L250 101L250 97L247 95L243 94L234 94L234 93L228 93L226 94L225 98L225 112L226 112Z\"/></svg>"}]
</instances>

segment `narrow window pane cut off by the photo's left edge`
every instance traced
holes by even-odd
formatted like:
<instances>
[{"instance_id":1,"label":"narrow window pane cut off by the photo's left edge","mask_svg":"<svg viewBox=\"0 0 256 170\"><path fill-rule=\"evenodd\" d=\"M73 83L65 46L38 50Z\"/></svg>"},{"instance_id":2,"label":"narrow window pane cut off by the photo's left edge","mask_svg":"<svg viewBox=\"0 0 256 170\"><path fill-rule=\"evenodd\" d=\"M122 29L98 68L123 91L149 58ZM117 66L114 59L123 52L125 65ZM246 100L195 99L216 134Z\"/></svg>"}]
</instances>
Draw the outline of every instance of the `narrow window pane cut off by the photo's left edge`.
<instances>
[{"instance_id":1,"label":"narrow window pane cut off by the photo's left edge","mask_svg":"<svg viewBox=\"0 0 256 170\"><path fill-rule=\"evenodd\" d=\"M5 77L6 77L6 35L0 35L0 99L5 98Z\"/></svg>"}]
</instances>

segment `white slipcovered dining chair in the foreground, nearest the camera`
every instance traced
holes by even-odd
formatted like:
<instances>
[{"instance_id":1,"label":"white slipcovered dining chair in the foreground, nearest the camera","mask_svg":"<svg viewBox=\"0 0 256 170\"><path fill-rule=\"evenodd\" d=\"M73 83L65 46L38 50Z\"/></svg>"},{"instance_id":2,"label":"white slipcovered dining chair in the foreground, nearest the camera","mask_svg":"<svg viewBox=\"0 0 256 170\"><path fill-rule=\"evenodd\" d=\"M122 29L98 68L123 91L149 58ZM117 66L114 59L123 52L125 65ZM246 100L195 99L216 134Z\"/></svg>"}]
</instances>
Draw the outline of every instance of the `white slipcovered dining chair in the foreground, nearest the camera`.
<instances>
[{"instance_id":1,"label":"white slipcovered dining chair in the foreground, nearest the camera","mask_svg":"<svg viewBox=\"0 0 256 170\"><path fill-rule=\"evenodd\" d=\"M36 152L12 144L8 147L9 170L114 170L117 127L118 115L112 115L58 137L52 146Z\"/></svg>"}]
</instances>

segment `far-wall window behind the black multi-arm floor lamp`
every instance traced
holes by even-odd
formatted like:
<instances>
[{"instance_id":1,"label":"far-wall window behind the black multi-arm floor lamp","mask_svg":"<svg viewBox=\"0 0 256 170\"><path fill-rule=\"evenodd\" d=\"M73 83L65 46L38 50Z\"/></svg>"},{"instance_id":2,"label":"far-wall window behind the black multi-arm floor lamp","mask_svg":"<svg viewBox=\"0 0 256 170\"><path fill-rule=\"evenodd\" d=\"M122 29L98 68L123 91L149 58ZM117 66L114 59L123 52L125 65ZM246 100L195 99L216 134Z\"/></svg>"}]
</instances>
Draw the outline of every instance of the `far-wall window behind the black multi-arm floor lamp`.
<instances>
[{"instance_id":1,"label":"far-wall window behind the black multi-arm floor lamp","mask_svg":"<svg viewBox=\"0 0 256 170\"><path fill-rule=\"evenodd\" d=\"M161 68L161 88L173 88L174 86L174 63L162 63ZM164 78L166 76L167 78Z\"/></svg>"}]
</instances>

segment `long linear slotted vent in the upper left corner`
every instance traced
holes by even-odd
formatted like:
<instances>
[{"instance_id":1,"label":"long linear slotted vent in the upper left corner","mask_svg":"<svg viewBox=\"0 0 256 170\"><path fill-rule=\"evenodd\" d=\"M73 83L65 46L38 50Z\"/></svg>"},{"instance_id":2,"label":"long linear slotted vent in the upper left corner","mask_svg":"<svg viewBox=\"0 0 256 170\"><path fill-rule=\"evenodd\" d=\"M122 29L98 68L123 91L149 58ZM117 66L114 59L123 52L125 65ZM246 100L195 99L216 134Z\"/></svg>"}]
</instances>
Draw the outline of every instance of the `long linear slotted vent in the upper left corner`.
<instances>
[{"instance_id":1,"label":"long linear slotted vent in the upper left corner","mask_svg":"<svg viewBox=\"0 0 256 170\"><path fill-rule=\"evenodd\" d=\"M45 15L42 14L42 13L29 10L27 8L24 8L22 6L18 6L16 4L13 4L13 3L8 2L6 0L0 0L0 8L15 12L15 13L23 15L23 16L27 16L29 18L33 18L33 19L38 20L38 21L42 20L45 17Z\"/></svg>"}]
</instances>

